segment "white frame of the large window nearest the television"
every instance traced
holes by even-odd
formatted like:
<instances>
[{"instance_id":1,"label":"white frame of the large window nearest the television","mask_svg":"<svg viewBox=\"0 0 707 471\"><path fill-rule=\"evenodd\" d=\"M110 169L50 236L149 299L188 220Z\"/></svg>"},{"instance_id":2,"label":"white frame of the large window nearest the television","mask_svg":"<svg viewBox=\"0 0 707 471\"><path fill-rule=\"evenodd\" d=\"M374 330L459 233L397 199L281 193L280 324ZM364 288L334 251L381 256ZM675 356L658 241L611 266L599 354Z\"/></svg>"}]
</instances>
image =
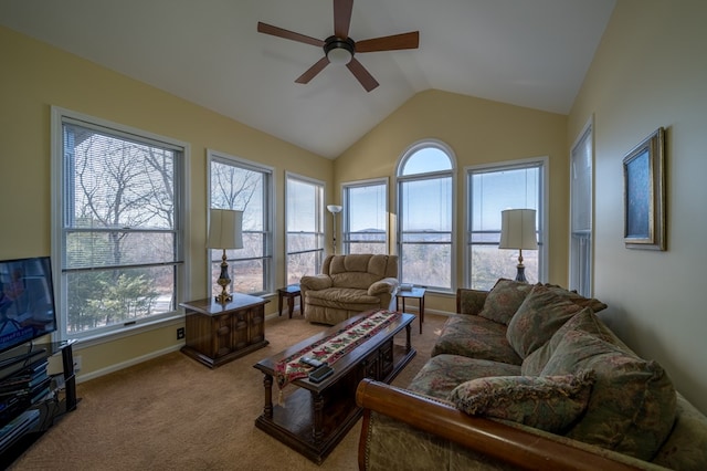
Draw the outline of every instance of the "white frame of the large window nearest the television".
<instances>
[{"instance_id":1,"label":"white frame of the large window nearest the television","mask_svg":"<svg viewBox=\"0 0 707 471\"><path fill-rule=\"evenodd\" d=\"M162 146L175 150L178 155L175 163L175 218L173 229L168 231L173 233L175 243L172 245L175 258L169 263L161 263L162 266L172 265L175 268L173 281L173 308L163 313L158 313L149 317L136 318L122 324L113 324L92 328L89 331L68 333L68 303L67 281L66 281L66 254L64 250L64 240L67 231L72 228L64 227L64 123L74 124L85 128L92 128L106 135L117 138L125 138L136 143L144 143L150 146ZM189 286L189 247L186 241L189 238L189 214L186 211L186 201L189 195L189 167L187 163L190 160L189 143L175 139L172 137L161 136L136 127L110 122L108 119L98 118L60 106L51 106L51 257L52 257L52 278L54 280L54 297L57 312L57 329L52 334L53 341L76 339L83 346L98 345L136 333L146 332L152 328L160 328L170 324L183 322L183 313L179 310L179 303L188 295ZM125 229L122 229L125 231ZM140 232L140 231L136 231ZM159 266L160 263L146 264L150 266ZM135 264L118 265L123 268L145 266ZM115 269L119 269L116 266ZM112 268L113 269L113 268ZM91 268L82 269L91 270Z\"/></svg>"}]
</instances>

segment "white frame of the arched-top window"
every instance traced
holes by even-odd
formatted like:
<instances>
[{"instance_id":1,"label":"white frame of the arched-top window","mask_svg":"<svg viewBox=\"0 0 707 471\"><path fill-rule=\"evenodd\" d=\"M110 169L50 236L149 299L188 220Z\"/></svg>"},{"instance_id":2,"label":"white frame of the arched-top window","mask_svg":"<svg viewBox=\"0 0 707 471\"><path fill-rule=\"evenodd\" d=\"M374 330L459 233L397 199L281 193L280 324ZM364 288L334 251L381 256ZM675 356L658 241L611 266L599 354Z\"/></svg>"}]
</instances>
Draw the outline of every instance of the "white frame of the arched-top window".
<instances>
[{"instance_id":1,"label":"white frame of the arched-top window","mask_svg":"<svg viewBox=\"0 0 707 471\"><path fill-rule=\"evenodd\" d=\"M443 169L443 170L435 170L435 171L429 171L429 172L419 172L419 174L412 174L412 175L402 175L405 168L405 165L408 164L408 161L420 150L423 150L425 148L434 148L437 149L442 153L444 153L447 158L450 159L450 169ZM409 146L398 158L398 163L395 164L395 178L394 178L394 185L395 185L395 212L397 212L397 224L395 224L395 249L397 249L397 254L398 254L398 278L400 279L400 282L407 282L404 280L404 261L403 261L403 245L405 244L405 242L403 242L403 228L402 228L402 221L403 221L403 198L402 198L402 185L409 182L409 181L421 181L421 180L429 180L429 179L435 179L435 178L450 178L451 180L451 186L452 186L452 191L451 191L451 201L450 201L450 242L449 243L444 243L443 245L450 245L450 287L445 287L445 286L434 286L434 285L424 285L424 287L428 289L429 292L434 292L434 293L443 293L443 294L454 294L456 292L456 286L457 286L457 282L456 282L456 251L457 251L457 243L456 243L456 228L457 228L457 221L456 221L456 217L455 214L456 212L456 195L457 195L457 184L456 184L456 168L457 168L457 164L456 164L456 156L454 154L454 150L452 150L452 147L449 146L446 143L439 140L439 139L434 139L434 138L426 138L426 139L422 139L419 140L414 144L412 144L411 146ZM446 231L444 231L446 233Z\"/></svg>"}]
</instances>

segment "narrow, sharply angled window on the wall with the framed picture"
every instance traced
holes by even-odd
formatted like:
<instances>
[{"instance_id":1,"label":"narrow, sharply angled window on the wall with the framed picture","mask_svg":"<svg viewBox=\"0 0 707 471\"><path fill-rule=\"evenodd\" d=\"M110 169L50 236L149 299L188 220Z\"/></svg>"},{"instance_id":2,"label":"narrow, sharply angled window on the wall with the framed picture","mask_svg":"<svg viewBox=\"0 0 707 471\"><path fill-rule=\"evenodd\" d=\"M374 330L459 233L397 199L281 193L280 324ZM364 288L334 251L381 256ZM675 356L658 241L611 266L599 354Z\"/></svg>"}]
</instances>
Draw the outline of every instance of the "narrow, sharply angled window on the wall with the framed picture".
<instances>
[{"instance_id":1,"label":"narrow, sharply angled window on the wall with the framed picture","mask_svg":"<svg viewBox=\"0 0 707 471\"><path fill-rule=\"evenodd\" d=\"M570 289L592 295L592 126L572 148L570 160Z\"/></svg>"}]
</instances>

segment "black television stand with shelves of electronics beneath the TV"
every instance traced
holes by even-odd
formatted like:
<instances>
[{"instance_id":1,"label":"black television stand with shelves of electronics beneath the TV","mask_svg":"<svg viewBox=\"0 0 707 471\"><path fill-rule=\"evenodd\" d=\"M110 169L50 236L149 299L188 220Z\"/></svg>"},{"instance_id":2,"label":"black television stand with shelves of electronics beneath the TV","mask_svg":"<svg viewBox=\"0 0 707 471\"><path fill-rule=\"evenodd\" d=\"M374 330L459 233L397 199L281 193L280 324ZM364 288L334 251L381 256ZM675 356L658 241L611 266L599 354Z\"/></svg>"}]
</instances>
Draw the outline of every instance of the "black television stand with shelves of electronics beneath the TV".
<instances>
[{"instance_id":1,"label":"black television stand with shelves of electronics beneath the TV","mask_svg":"<svg viewBox=\"0 0 707 471\"><path fill-rule=\"evenodd\" d=\"M62 354L62 371L49 376L51 380L46 379L49 389L45 394L29 397L20 388L14 397L17 400L11 401L12 408L0 410L0 463L11 464L55 420L76 409L78 399L72 350L74 343L75 341L36 344L25 354L17 355L15 350L6 353L6 357L0 356L0 381L8 381L24 377L32 365Z\"/></svg>"}]
</instances>

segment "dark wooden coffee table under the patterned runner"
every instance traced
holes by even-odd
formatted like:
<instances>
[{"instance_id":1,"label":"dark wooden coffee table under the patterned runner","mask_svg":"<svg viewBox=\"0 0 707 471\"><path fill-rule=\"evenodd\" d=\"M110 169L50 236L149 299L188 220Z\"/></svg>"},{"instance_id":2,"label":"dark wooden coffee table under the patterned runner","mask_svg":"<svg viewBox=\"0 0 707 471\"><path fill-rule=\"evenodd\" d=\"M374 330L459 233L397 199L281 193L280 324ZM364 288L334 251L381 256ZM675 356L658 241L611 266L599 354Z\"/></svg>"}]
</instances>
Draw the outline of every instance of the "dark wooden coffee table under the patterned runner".
<instances>
[{"instance_id":1,"label":"dark wooden coffee table under the patterned runner","mask_svg":"<svg viewBox=\"0 0 707 471\"><path fill-rule=\"evenodd\" d=\"M321 383L295 379L285 387L284 406L273 402L275 365L315 342L338 333L361 314L254 365L265 375L265 406L255 426L320 464L361 416L356 387L363 378L390 383L415 356L410 325L415 316L401 316L331 365L334 375ZM404 333L403 333L404 329ZM275 386L275 394L277 394ZM283 463L285 464L285 463Z\"/></svg>"}]
</instances>

